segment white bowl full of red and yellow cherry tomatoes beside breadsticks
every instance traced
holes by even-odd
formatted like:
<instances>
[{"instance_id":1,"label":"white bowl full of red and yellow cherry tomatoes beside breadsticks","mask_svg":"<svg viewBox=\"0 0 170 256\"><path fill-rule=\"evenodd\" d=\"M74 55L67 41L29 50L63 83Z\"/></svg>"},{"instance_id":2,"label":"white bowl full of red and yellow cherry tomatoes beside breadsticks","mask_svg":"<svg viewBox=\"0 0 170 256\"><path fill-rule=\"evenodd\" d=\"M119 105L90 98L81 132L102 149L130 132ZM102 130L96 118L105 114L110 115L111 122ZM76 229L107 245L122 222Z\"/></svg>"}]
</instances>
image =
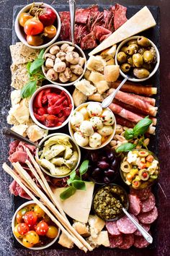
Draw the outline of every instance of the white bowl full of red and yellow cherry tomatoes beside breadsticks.
<instances>
[{"instance_id":1,"label":"white bowl full of red and yellow cherry tomatoes beside breadsticks","mask_svg":"<svg viewBox=\"0 0 170 256\"><path fill-rule=\"evenodd\" d=\"M12 231L19 244L45 249L58 239L60 229L33 200L22 204L12 218Z\"/></svg>"}]
</instances>

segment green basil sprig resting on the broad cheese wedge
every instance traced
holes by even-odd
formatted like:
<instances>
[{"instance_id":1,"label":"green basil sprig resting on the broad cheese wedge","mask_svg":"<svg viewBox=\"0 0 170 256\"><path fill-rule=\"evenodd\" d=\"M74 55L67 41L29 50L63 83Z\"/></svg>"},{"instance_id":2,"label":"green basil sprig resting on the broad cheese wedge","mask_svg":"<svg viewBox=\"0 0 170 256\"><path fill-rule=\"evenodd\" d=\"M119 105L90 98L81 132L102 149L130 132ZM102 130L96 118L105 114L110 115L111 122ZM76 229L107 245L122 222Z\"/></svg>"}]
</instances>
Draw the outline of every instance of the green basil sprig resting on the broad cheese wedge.
<instances>
[{"instance_id":1,"label":"green basil sprig resting on the broad cheese wedge","mask_svg":"<svg viewBox=\"0 0 170 256\"><path fill-rule=\"evenodd\" d=\"M68 197L71 197L76 192L76 189L86 190L86 184L82 181L81 176L86 173L89 167L89 160L85 160L81 163L79 168L80 176L76 174L76 171L72 171L70 178L67 181L69 187L67 187L60 195L61 200L66 200Z\"/></svg>"}]
</instances>

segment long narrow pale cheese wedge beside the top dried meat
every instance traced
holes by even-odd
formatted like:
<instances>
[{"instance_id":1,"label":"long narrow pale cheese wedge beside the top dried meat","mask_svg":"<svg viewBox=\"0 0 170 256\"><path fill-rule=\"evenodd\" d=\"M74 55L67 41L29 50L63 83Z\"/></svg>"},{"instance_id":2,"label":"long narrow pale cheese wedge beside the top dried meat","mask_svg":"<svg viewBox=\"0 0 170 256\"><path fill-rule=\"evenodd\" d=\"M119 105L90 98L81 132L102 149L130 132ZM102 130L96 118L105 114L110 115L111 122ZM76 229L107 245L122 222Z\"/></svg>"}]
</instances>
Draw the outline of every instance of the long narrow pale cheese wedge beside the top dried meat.
<instances>
[{"instance_id":1,"label":"long narrow pale cheese wedge beside the top dried meat","mask_svg":"<svg viewBox=\"0 0 170 256\"><path fill-rule=\"evenodd\" d=\"M148 7L143 7L133 17L119 27L112 35L109 35L102 43L99 44L93 51L89 53L89 56L99 53L104 49L113 46L115 43L119 43L132 35L138 34L143 30L147 30L150 27L154 27L156 21L154 20Z\"/></svg>"}]
</instances>

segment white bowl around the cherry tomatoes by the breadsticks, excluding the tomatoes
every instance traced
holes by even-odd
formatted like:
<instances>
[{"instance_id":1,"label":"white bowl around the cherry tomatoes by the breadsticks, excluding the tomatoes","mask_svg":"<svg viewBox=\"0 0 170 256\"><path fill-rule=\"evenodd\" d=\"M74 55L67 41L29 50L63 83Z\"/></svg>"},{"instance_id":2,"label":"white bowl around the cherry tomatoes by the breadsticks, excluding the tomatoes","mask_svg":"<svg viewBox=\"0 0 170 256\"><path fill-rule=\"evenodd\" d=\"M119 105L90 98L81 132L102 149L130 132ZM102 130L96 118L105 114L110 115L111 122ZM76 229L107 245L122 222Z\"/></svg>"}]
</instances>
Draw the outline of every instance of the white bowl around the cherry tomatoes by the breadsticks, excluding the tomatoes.
<instances>
[{"instance_id":1,"label":"white bowl around the cherry tomatoes by the breadsticks, excluding the tomatoes","mask_svg":"<svg viewBox=\"0 0 170 256\"><path fill-rule=\"evenodd\" d=\"M25 206L27 205L31 205L32 203L35 203L33 200L30 200L28 202L24 202L22 205L19 206L19 208L17 208L17 210L15 211L14 213L14 216L12 217L12 233L14 234L14 227L15 227L15 218L17 216L17 213L19 210L21 210L22 208L24 208ZM36 203L35 203L36 204ZM58 236L56 236L53 241L51 241L49 244L46 244L45 246L42 246L42 247L30 247L30 248L27 248L27 249L34 249L34 250L37 250L37 249L46 249L48 247L50 247L52 244L54 244L56 242L56 240L58 239L58 237L60 236L60 233L61 233L61 229L58 228ZM14 234L14 237L15 239L17 239L17 242L19 242L19 244L22 244L22 241L17 238L17 236L15 236ZM24 247L24 245L22 244L22 246Z\"/></svg>"}]
</instances>

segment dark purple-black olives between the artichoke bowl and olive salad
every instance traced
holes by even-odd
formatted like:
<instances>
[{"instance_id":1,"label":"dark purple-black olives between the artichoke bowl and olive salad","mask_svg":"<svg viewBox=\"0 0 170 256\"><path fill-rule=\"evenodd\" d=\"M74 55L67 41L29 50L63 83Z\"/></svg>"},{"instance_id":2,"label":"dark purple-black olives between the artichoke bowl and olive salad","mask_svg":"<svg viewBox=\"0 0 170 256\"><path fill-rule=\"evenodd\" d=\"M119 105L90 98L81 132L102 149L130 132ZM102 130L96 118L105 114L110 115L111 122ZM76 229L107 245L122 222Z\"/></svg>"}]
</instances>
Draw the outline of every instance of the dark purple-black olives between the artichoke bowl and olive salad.
<instances>
[{"instance_id":1,"label":"dark purple-black olives between the artichoke bowl and olive salad","mask_svg":"<svg viewBox=\"0 0 170 256\"><path fill-rule=\"evenodd\" d=\"M96 184L109 184L115 181L119 175L120 159L111 148L93 150L89 152L88 158L87 175L89 180Z\"/></svg>"}]
</instances>

